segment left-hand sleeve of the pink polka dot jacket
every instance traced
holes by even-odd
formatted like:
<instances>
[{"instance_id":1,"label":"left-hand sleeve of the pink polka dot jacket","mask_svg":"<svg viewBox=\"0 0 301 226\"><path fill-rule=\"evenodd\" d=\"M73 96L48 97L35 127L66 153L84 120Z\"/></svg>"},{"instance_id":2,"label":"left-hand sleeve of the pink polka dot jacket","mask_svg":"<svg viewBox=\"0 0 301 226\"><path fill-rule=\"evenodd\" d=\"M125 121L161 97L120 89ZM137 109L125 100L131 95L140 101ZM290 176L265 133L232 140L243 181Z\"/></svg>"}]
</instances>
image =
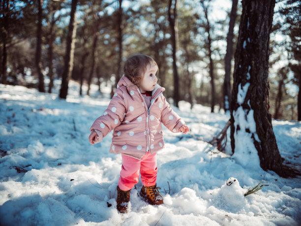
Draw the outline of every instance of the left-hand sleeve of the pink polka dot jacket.
<instances>
[{"instance_id":1,"label":"left-hand sleeve of the pink polka dot jacket","mask_svg":"<svg viewBox=\"0 0 301 226\"><path fill-rule=\"evenodd\" d=\"M117 89L115 95L111 99L108 108L104 111L103 115L98 117L92 126L92 129L98 130L105 137L112 129L121 124L124 119L126 107L124 103L123 93Z\"/></svg>"}]
</instances>

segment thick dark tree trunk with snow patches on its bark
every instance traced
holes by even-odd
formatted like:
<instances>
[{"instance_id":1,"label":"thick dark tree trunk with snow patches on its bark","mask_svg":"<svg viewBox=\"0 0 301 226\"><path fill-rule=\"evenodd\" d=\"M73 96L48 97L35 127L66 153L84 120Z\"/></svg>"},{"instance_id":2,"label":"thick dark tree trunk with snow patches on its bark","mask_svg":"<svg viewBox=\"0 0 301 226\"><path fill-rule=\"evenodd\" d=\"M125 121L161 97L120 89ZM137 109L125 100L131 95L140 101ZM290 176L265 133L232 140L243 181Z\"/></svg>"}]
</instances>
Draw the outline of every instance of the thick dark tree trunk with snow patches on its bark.
<instances>
[{"instance_id":1,"label":"thick dark tree trunk with snow patches on its bark","mask_svg":"<svg viewBox=\"0 0 301 226\"><path fill-rule=\"evenodd\" d=\"M248 162L258 161L264 170L287 176L269 113L269 40L274 5L275 0L242 0L231 100L231 146L234 158L242 165L256 168Z\"/></svg>"}]
</instances>

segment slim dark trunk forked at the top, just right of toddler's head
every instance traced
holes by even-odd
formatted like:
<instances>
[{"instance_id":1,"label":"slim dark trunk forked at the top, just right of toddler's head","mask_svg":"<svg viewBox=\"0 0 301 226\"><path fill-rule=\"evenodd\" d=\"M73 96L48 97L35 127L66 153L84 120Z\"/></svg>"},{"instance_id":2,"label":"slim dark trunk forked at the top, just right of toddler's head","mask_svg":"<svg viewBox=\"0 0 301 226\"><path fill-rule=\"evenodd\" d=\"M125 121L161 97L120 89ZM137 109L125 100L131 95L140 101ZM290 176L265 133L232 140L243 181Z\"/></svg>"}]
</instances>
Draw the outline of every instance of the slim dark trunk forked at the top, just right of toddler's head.
<instances>
[{"instance_id":1,"label":"slim dark trunk forked at the top, just right of toddler's head","mask_svg":"<svg viewBox=\"0 0 301 226\"><path fill-rule=\"evenodd\" d=\"M174 8L173 14L172 10L172 2L173 0L169 0L168 6L168 21L171 29L171 40L173 47L173 75L174 75L174 105L179 107L179 76L178 76L178 68L177 68L177 40L178 40L178 20L177 20L177 7L178 1L174 0Z\"/></svg>"}]
</instances>

